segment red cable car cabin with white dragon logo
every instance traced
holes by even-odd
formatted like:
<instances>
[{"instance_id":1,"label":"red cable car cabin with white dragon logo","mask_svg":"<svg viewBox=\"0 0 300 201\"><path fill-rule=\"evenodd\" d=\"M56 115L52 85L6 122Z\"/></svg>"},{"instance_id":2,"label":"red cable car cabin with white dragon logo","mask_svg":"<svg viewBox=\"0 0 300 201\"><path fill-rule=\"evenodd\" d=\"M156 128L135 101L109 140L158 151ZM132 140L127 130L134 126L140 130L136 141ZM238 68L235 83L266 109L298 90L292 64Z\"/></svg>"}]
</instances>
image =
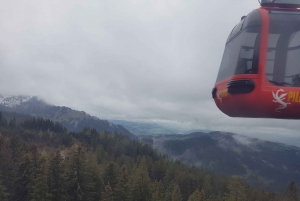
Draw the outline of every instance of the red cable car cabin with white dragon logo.
<instances>
[{"instance_id":1,"label":"red cable car cabin with white dragon logo","mask_svg":"<svg viewBox=\"0 0 300 201\"><path fill-rule=\"evenodd\" d=\"M262 0L233 28L212 91L231 117L300 119L300 0Z\"/></svg>"}]
</instances>

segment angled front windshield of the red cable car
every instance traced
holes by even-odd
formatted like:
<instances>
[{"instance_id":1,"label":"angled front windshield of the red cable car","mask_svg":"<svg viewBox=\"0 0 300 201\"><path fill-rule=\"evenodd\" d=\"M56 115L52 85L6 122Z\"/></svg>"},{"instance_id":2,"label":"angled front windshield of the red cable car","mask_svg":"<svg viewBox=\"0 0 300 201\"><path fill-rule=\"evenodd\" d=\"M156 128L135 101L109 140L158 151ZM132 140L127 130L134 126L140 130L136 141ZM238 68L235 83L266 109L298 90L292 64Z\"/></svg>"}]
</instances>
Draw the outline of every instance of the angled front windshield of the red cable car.
<instances>
[{"instance_id":1,"label":"angled front windshield of the red cable car","mask_svg":"<svg viewBox=\"0 0 300 201\"><path fill-rule=\"evenodd\" d=\"M229 35L217 82L238 74L256 74L258 66L261 17L253 11Z\"/></svg>"}]
</instances>

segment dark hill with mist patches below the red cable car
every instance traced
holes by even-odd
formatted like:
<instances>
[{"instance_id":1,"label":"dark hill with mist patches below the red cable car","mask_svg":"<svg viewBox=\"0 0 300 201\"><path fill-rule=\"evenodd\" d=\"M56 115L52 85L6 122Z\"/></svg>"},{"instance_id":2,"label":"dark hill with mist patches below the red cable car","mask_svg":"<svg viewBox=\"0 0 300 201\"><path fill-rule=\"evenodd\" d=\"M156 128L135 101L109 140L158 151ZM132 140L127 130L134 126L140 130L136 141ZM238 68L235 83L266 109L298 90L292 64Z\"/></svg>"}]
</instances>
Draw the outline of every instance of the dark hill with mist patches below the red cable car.
<instances>
[{"instance_id":1,"label":"dark hill with mist patches below the red cable car","mask_svg":"<svg viewBox=\"0 0 300 201\"><path fill-rule=\"evenodd\" d=\"M183 163L241 176L255 186L282 190L300 184L300 148L226 132L149 135L144 142Z\"/></svg>"}]
</instances>

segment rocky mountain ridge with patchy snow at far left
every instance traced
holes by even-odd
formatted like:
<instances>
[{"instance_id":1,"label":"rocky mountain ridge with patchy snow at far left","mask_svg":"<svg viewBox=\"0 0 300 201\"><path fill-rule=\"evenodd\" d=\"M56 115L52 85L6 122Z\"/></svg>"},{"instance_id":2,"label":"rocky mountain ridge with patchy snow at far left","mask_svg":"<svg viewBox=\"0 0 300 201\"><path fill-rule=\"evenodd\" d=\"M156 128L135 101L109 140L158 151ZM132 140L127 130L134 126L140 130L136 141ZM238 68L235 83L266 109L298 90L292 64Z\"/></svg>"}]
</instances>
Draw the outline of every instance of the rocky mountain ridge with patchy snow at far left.
<instances>
[{"instance_id":1,"label":"rocky mountain ridge with patchy snow at far left","mask_svg":"<svg viewBox=\"0 0 300 201\"><path fill-rule=\"evenodd\" d=\"M22 118L26 118L24 115L29 115L31 117L50 119L61 123L70 131L81 131L85 127L91 127L98 131L117 132L136 139L135 135L121 125L101 120L83 111L49 105L37 97L0 95L0 111L20 113L23 114ZM13 116L11 113L5 114L8 117Z\"/></svg>"}]
</instances>

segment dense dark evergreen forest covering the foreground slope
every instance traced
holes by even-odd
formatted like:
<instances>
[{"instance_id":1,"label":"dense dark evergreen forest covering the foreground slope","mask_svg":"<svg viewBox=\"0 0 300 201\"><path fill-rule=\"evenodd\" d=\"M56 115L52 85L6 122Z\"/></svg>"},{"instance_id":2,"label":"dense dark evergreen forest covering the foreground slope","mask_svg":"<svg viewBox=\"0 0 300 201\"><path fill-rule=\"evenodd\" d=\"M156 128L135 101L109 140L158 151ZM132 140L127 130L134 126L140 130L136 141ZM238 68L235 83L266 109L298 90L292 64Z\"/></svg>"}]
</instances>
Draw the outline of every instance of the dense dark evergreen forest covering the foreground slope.
<instances>
[{"instance_id":1,"label":"dense dark evergreen forest covering the foreground slope","mask_svg":"<svg viewBox=\"0 0 300 201\"><path fill-rule=\"evenodd\" d=\"M117 133L0 113L2 201L276 201L298 200L294 181L281 193L239 178L172 161Z\"/></svg>"}]
</instances>

